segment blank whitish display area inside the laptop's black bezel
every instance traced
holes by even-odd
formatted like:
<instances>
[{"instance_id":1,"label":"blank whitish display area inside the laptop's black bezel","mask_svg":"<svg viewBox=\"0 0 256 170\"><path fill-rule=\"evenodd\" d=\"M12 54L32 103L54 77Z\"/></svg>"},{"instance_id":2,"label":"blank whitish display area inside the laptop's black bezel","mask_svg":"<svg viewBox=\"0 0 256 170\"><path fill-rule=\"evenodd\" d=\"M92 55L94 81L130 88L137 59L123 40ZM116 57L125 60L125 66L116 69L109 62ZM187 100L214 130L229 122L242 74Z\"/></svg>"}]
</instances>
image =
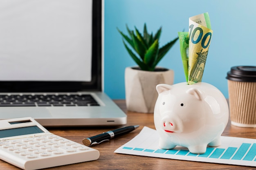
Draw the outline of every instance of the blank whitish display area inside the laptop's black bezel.
<instances>
[{"instance_id":1,"label":"blank whitish display area inside the laptop's black bezel","mask_svg":"<svg viewBox=\"0 0 256 170\"><path fill-rule=\"evenodd\" d=\"M92 0L0 0L0 23L0 80L91 80Z\"/></svg>"}]
</instances>

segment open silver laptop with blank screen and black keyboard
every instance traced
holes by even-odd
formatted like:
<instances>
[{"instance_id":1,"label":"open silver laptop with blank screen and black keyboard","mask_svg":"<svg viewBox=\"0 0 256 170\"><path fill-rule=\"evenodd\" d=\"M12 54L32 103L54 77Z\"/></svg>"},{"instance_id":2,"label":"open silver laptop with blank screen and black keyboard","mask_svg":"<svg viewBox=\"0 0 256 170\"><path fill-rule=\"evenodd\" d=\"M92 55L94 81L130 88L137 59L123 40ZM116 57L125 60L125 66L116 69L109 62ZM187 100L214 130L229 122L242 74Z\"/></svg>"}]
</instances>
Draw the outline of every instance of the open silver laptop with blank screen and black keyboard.
<instances>
[{"instance_id":1,"label":"open silver laptop with blank screen and black keyboard","mask_svg":"<svg viewBox=\"0 0 256 170\"><path fill-rule=\"evenodd\" d=\"M103 92L103 0L0 1L0 119L119 126Z\"/></svg>"}]
</instances>

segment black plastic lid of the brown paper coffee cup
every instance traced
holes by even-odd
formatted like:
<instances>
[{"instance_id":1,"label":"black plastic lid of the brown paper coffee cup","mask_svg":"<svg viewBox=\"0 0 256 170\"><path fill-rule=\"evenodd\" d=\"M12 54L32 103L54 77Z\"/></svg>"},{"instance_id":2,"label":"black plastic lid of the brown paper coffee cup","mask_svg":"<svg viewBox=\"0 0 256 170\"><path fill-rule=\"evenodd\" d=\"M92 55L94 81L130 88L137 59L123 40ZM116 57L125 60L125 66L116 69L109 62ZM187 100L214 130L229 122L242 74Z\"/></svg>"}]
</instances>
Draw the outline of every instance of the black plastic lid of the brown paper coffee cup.
<instances>
[{"instance_id":1,"label":"black plastic lid of the brown paper coffee cup","mask_svg":"<svg viewBox=\"0 0 256 170\"><path fill-rule=\"evenodd\" d=\"M226 79L236 82L256 82L256 66L234 66Z\"/></svg>"}]
</instances>

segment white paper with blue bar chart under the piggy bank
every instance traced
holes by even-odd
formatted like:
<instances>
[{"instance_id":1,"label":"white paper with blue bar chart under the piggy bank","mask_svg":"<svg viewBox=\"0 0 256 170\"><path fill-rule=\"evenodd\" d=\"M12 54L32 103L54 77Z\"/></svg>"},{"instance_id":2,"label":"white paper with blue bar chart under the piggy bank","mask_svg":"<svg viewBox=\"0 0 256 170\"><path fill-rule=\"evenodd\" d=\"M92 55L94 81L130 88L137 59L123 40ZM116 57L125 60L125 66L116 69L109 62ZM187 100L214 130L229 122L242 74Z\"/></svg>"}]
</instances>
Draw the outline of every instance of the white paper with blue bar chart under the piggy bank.
<instances>
[{"instance_id":1,"label":"white paper with blue bar chart under the piggy bank","mask_svg":"<svg viewBox=\"0 0 256 170\"><path fill-rule=\"evenodd\" d=\"M256 139L221 136L220 146L207 147L206 152L200 155L181 146L170 150L159 149L158 140L157 131L145 126L115 153L256 167Z\"/></svg>"}]
</instances>

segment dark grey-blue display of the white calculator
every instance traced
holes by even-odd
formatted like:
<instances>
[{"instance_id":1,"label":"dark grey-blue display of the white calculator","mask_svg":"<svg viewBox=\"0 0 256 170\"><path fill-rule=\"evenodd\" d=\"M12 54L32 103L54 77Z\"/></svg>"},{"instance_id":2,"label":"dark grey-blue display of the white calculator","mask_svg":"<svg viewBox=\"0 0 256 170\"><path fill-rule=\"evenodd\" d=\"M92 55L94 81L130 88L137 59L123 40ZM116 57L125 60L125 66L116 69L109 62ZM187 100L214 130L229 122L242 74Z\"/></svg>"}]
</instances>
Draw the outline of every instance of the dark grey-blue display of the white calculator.
<instances>
[{"instance_id":1,"label":"dark grey-blue display of the white calculator","mask_svg":"<svg viewBox=\"0 0 256 170\"><path fill-rule=\"evenodd\" d=\"M42 132L44 131L41 130L38 126L27 126L22 128L4 129L4 130L0 130L0 138L29 135L29 134L42 133Z\"/></svg>"}]
</instances>

